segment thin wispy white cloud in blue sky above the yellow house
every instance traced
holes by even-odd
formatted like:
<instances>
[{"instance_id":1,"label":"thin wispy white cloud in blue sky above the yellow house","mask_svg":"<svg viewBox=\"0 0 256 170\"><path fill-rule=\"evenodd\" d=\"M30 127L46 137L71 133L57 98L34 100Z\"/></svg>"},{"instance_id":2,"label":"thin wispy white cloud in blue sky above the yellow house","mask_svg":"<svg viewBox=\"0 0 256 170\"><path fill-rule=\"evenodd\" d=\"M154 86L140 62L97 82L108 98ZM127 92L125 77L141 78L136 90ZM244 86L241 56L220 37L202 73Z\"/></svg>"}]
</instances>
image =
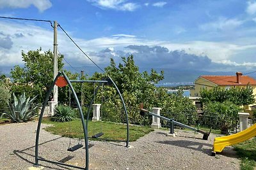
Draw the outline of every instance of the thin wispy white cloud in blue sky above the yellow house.
<instances>
[{"instance_id":1,"label":"thin wispy white cloud in blue sky above the yellow house","mask_svg":"<svg viewBox=\"0 0 256 170\"><path fill-rule=\"evenodd\" d=\"M199 28L204 31L211 31L211 30L230 30L236 27L239 27L244 23L243 20L228 19L228 18L219 18L217 21L209 22L203 25L200 25Z\"/></svg>"}]
</instances>

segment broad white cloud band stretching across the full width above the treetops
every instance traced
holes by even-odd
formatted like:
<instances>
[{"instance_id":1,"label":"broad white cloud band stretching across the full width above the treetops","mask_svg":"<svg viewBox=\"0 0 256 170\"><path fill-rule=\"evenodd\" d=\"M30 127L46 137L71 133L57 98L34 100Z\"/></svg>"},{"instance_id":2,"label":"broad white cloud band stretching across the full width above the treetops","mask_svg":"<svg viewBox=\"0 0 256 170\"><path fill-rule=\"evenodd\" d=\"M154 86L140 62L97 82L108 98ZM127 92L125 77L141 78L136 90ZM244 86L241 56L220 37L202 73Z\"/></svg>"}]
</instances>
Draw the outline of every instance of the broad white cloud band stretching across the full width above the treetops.
<instances>
[{"instance_id":1,"label":"broad white cloud band stretching across the full width above the treetops","mask_svg":"<svg viewBox=\"0 0 256 170\"><path fill-rule=\"evenodd\" d=\"M68 32L72 36L72 32ZM1 22L0 21L0 66L14 66L15 64L22 64L21 51L28 52L28 50L36 50L40 46L43 50L52 49L52 36L53 31L49 25L49 29L43 29L42 27L36 27L35 25L18 24L16 22ZM170 51L180 50L187 54L196 55L197 57L209 57L212 62L229 64L230 62L236 62L232 60L233 56L237 56L239 53L246 53L248 50L256 48L256 43L248 43L247 41L239 42L240 44L227 43L227 42L211 42L211 41L188 41L184 43L172 43L170 41L159 41L138 38L129 34L114 34L113 36L101 37L95 39L80 39L74 38L74 41L84 50L84 52L90 52L90 56L97 64L106 64L109 62L108 56L95 55L102 49L108 48L109 56L116 56L116 52L122 51L125 53L135 52L132 48L124 48L129 45L141 45L141 46L163 46ZM10 40L10 45L1 46L1 42L5 42L6 39ZM9 41L8 40L8 41ZM90 60L84 57L76 46L70 41L70 39L58 32L58 49L65 55L68 61L72 61L72 64L87 64L92 65ZM114 50L115 49L115 50ZM94 52L94 53L92 53ZM143 57L143 55L141 55ZM141 59L143 60L143 59ZM145 57L147 60L147 57ZM230 60L230 62L228 62ZM253 63L255 62L252 60ZM237 62L236 62L237 63ZM254 66L250 65L249 61L244 57L243 63L234 64L234 66Z\"/></svg>"}]
</instances>

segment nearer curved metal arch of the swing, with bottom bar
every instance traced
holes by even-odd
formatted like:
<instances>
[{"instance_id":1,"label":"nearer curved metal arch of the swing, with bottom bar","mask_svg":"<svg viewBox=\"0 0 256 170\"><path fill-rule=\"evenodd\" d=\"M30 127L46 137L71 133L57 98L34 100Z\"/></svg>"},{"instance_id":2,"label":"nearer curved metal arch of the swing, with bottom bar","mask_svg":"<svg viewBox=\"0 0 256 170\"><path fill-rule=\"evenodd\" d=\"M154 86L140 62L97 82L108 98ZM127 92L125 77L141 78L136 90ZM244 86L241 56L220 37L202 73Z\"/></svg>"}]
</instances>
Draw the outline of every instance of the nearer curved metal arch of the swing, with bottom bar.
<instances>
[{"instance_id":1,"label":"nearer curved metal arch of the swing, with bottom bar","mask_svg":"<svg viewBox=\"0 0 256 170\"><path fill-rule=\"evenodd\" d=\"M56 81L58 80L58 78L61 76L61 74L64 76L65 80L67 81L68 83L68 86L70 87L71 91L72 91L72 94L74 95L75 97L75 100L76 100L76 104L78 106L78 109L79 109L79 113L80 113L80 117L81 117L81 120L82 120L82 124L83 124L83 131L84 131L84 143L85 143L85 150L86 150L86 162L85 162L85 167L78 167L78 166L72 166L72 165L69 165L69 164L63 164L63 163L60 163L60 162L54 162L54 161L51 161L51 160L45 160L45 159L39 159L38 158L38 145L39 145L39 134L40 134L40 127L41 127L41 124L42 124L42 118L43 118L43 114L44 114L44 110L45 110L45 106L47 104L47 101L49 99L49 96L52 92L52 89L56 83ZM87 123L86 123L87 124ZM86 128L86 125L84 124L84 117L83 117L83 111L82 111L82 108L81 108L81 105L79 103L79 100L77 98L77 95L76 95L76 92L74 90L74 88L72 87L72 84L70 83L70 80L68 79L67 75L64 73L64 71L60 72L57 74L56 78L54 79L54 81L52 82L51 86L49 87L49 90L47 92L47 95L45 97L45 101L44 101L44 105L42 107L42 110L41 110L41 113L40 113L40 117L39 117L39 120L38 120L38 125L37 125L37 131L36 131L36 145L35 145L35 165L36 166L39 166L38 164L38 160L42 160L42 161L45 161L45 162L50 162L52 164L61 164L63 166L70 166L70 167L76 167L78 169L86 169L88 170L89 169L89 150L88 150L88 132L87 132L87 128Z\"/></svg>"}]
</instances>

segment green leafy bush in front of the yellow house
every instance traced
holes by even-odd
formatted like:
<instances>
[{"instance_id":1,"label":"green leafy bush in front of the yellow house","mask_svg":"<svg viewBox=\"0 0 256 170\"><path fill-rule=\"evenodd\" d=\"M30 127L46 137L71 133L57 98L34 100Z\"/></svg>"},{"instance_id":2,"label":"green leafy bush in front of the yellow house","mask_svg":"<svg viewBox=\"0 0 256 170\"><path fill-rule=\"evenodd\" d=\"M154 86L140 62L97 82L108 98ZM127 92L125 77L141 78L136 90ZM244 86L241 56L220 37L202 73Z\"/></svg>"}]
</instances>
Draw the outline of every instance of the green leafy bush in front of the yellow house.
<instances>
[{"instance_id":1,"label":"green leafy bush in front of the yellow house","mask_svg":"<svg viewBox=\"0 0 256 170\"><path fill-rule=\"evenodd\" d=\"M201 101L202 103L208 102L220 102L230 101L236 105L244 106L255 103L253 96L253 89L250 85L241 88L223 89L220 87L214 87L210 90L201 89Z\"/></svg>"}]
</instances>

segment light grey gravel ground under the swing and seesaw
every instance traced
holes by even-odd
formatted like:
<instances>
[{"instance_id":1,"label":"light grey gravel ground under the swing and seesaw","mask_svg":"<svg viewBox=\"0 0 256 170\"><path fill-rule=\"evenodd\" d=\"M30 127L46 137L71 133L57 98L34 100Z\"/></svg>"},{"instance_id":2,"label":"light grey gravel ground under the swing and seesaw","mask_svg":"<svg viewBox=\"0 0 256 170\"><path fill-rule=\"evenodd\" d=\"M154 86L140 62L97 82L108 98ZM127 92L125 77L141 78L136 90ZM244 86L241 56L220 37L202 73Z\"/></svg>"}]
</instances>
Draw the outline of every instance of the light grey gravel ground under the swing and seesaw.
<instances>
[{"instance_id":1,"label":"light grey gravel ground under the swing and seesaw","mask_svg":"<svg viewBox=\"0 0 256 170\"><path fill-rule=\"evenodd\" d=\"M0 169L28 169L35 162L37 122L0 125ZM47 125L42 124L42 127ZM176 130L175 130L176 131ZM239 169L239 159L231 147L211 157L214 135L207 141L202 134L176 131L177 136L165 136L167 131L150 132L130 148L124 143L90 141L90 169ZM67 152L69 139L40 131L39 156L67 164L84 166L84 149ZM72 140L73 145L77 141ZM44 169L67 169L40 162Z\"/></svg>"}]
</instances>

